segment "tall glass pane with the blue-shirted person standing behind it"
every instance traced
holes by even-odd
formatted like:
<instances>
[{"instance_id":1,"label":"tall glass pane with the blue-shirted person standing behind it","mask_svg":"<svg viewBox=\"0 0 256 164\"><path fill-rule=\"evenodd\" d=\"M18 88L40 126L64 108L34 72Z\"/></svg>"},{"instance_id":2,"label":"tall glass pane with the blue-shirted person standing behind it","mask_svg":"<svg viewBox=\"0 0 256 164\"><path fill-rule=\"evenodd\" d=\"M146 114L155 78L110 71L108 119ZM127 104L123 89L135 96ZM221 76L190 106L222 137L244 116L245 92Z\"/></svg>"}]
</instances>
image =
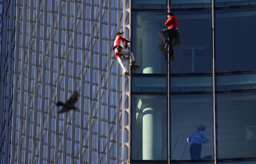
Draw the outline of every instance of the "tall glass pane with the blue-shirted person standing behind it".
<instances>
[{"instance_id":1,"label":"tall glass pane with the blue-shirted person standing behind it","mask_svg":"<svg viewBox=\"0 0 256 164\"><path fill-rule=\"evenodd\" d=\"M214 158L212 101L212 94L171 95L172 160ZM204 131L199 132L197 127L202 124Z\"/></svg>"}]
</instances>

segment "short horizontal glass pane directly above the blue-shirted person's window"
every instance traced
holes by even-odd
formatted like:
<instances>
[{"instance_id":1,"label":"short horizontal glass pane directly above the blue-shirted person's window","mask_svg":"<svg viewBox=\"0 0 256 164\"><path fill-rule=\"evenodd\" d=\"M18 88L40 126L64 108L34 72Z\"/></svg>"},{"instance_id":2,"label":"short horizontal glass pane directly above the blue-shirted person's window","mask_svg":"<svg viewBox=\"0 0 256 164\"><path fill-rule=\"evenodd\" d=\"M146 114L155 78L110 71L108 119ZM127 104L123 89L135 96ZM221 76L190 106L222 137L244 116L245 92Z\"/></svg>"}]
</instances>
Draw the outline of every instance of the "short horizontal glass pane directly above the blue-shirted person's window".
<instances>
[{"instance_id":1,"label":"short horizontal glass pane directly above the blue-shirted person's window","mask_svg":"<svg viewBox=\"0 0 256 164\"><path fill-rule=\"evenodd\" d=\"M212 91L212 76L171 77L171 92Z\"/></svg>"}]
</instances>

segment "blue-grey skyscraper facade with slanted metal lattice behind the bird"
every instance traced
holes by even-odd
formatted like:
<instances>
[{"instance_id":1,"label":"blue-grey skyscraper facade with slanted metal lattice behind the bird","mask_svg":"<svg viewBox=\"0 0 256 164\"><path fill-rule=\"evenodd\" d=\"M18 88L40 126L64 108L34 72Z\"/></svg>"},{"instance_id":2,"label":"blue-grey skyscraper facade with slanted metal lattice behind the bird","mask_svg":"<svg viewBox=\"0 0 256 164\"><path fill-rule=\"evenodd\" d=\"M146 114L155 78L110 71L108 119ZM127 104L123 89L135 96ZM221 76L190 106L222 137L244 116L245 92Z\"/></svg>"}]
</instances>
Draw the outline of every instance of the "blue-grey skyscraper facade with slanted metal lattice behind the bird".
<instances>
[{"instance_id":1,"label":"blue-grey skyscraper facade with slanted metal lattice behind the bird","mask_svg":"<svg viewBox=\"0 0 256 164\"><path fill-rule=\"evenodd\" d=\"M111 49L116 32L129 25L126 5L0 0L0 164L119 164L127 158L128 78ZM56 102L74 90L78 110L58 114Z\"/></svg>"}]
</instances>

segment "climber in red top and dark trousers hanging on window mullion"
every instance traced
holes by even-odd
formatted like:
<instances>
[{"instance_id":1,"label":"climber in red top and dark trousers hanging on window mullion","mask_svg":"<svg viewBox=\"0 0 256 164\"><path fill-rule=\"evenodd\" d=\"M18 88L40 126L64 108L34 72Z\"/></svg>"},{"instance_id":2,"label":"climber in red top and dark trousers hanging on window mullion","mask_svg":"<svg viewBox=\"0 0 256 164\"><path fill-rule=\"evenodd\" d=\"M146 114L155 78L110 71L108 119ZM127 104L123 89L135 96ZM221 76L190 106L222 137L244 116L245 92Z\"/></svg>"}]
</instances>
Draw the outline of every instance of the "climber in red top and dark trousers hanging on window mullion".
<instances>
[{"instance_id":1,"label":"climber in red top and dark trousers hanging on window mullion","mask_svg":"<svg viewBox=\"0 0 256 164\"><path fill-rule=\"evenodd\" d=\"M168 6L168 8L169 12L165 13L168 18L165 22L165 25L168 26L168 28L159 32L158 35L163 41L165 41L165 49L169 46L169 53L171 56L174 56L173 43L177 36L177 33L180 33L180 30L178 29L177 18L174 16L174 13L172 12L170 6ZM167 39L167 36L169 36L169 40Z\"/></svg>"}]
</instances>

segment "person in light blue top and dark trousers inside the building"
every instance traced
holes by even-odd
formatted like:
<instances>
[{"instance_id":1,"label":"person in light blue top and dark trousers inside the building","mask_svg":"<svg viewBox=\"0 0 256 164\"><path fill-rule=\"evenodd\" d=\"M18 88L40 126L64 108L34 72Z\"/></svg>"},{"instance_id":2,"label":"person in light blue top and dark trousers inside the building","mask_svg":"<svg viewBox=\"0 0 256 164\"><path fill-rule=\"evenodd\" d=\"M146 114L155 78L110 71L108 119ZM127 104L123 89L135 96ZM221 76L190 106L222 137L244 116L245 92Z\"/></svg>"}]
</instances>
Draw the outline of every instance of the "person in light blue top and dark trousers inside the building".
<instances>
[{"instance_id":1,"label":"person in light blue top and dark trousers inside the building","mask_svg":"<svg viewBox=\"0 0 256 164\"><path fill-rule=\"evenodd\" d=\"M210 141L209 137L203 132L206 127L201 124L198 125L197 131L194 132L189 138L188 142L190 143L190 157L191 159L201 159L201 147L202 143Z\"/></svg>"}]
</instances>

